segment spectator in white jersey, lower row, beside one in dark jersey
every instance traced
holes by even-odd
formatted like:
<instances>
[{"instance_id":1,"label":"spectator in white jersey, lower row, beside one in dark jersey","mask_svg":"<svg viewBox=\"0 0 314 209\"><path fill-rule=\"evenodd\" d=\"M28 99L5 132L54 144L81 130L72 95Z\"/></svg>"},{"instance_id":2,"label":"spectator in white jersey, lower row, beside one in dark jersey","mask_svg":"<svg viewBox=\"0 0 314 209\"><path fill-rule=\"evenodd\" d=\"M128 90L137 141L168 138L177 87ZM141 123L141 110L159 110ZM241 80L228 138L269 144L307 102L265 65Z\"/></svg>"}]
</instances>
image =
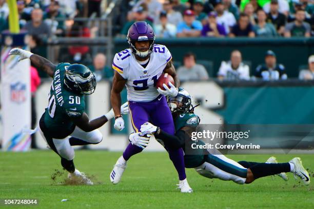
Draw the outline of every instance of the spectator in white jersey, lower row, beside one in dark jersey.
<instances>
[{"instance_id":1,"label":"spectator in white jersey, lower row, beside one in dark jersey","mask_svg":"<svg viewBox=\"0 0 314 209\"><path fill-rule=\"evenodd\" d=\"M242 55L239 50L231 52L229 61L221 62L218 78L225 80L250 79L250 69L247 65L243 64Z\"/></svg>"}]
</instances>

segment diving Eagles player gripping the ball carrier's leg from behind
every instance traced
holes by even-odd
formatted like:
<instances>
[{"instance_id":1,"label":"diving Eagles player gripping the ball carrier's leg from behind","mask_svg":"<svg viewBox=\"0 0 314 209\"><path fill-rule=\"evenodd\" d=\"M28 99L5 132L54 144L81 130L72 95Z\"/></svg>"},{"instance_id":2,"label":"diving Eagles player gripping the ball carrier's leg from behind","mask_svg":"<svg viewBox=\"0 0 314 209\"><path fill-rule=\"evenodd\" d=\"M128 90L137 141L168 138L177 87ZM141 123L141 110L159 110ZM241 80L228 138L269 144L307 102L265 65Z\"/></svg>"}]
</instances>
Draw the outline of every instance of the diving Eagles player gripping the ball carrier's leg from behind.
<instances>
[{"instance_id":1,"label":"diving Eagles player gripping the ball carrier's leg from behind","mask_svg":"<svg viewBox=\"0 0 314 209\"><path fill-rule=\"evenodd\" d=\"M192 143L204 144L201 140L191 140L191 133L195 132L200 123L199 116L193 113L195 107L191 105L191 97L186 90L180 88L178 96L168 98L168 105L174 120L175 135L167 134L159 127L146 122L141 126L140 136L153 134L168 147L181 147L186 153L184 156L186 168L194 168L200 175L207 178L232 180L239 184L251 183L255 179L270 175L279 175L284 180L288 180L285 172L295 174L295 177L298 176L306 185L310 183L308 172L303 168L302 161L298 157L286 163L278 163L274 157L270 157L266 163L235 162L222 154L215 155L201 149L189 149ZM133 139L133 143L137 142L144 146L148 144L148 142L142 143L141 140Z\"/></svg>"}]
</instances>

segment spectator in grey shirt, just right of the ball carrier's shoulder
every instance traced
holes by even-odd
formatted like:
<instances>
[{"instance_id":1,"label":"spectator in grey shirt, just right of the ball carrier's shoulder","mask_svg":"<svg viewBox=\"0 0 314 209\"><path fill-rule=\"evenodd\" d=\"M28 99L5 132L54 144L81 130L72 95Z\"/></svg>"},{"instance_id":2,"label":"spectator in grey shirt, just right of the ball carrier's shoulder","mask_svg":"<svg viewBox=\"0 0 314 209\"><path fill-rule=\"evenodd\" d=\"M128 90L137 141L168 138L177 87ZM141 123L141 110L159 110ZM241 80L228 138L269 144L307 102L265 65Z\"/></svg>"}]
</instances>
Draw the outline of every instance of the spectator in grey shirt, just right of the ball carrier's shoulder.
<instances>
[{"instance_id":1,"label":"spectator in grey shirt, just right of the ball carrier's shoulder","mask_svg":"<svg viewBox=\"0 0 314 209\"><path fill-rule=\"evenodd\" d=\"M196 64L196 57L193 53L186 53L183 57L183 65L178 68L177 74L181 81L207 80L208 73L204 66Z\"/></svg>"}]
</instances>

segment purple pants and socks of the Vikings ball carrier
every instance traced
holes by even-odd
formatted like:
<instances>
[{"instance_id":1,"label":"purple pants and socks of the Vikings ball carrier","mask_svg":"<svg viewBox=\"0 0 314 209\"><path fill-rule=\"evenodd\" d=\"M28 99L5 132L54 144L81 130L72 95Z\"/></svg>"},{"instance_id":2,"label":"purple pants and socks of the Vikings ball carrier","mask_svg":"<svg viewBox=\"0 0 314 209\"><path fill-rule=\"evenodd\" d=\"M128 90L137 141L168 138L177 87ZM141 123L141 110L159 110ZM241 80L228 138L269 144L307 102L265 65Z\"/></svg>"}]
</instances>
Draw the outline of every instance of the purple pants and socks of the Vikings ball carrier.
<instances>
[{"instance_id":1,"label":"purple pants and socks of the Vikings ball carrier","mask_svg":"<svg viewBox=\"0 0 314 209\"><path fill-rule=\"evenodd\" d=\"M151 122L154 126L160 127L163 131L172 135L174 134L174 123L165 96L159 95L156 99L150 102L129 101L129 108L132 126L135 132L140 131L143 123ZM186 175L184 169L183 150L181 148L176 150L169 148L165 149L168 151L169 157L179 174L179 179L185 179ZM143 149L129 143L123 153L123 158L128 160L132 155L138 154L142 151Z\"/></svg>"}]
</instances>

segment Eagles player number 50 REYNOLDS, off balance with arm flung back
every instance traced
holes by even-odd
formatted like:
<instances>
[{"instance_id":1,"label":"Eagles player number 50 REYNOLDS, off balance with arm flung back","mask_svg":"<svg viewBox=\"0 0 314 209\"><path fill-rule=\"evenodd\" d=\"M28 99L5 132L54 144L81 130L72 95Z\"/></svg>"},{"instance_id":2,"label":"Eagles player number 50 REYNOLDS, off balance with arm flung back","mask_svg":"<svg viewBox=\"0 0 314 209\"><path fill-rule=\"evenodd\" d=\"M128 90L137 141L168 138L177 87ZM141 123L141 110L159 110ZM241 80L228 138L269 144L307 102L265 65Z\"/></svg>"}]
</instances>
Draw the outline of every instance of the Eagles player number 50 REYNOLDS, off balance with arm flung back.
<instances>
[{"instance_id":1,"label":"Eagles player number 50 REYNOLDS, off balance with arm flung back","mask_svg":"<svg viewBox=\"0 0 314 209\"><path fill-rule=\"evenodd\" d=\"M23 49L14 48L9 55L19 55L19 61L29 58L36 68L52 77L48 107L40 119L39 131L49 147L61 157L69 178L93 184L84 173L75 169L72 146L100 143L103 136L98 128L114 117L112 109L93 120L85 113L84 95L92 94L96 88L94 74L81 64L55 66L48 59ZM128 113L127 103L121 107L121 113Z\"/></svg>"}]
</instances>

